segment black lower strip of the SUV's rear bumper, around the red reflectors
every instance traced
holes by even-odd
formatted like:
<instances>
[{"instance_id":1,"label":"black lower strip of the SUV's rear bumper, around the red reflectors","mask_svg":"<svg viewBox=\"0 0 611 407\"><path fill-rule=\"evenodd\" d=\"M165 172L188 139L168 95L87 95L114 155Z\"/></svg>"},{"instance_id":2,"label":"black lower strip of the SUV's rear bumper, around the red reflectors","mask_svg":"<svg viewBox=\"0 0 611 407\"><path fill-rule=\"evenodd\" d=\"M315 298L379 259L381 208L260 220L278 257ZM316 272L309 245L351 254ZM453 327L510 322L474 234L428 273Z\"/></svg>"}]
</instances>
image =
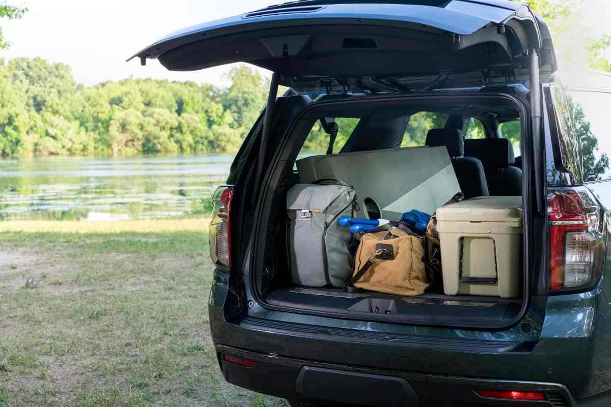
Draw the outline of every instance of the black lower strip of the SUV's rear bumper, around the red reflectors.
<instances>
[{"instance_id":1,"label":"black lower strip of the SUV's rear bumper, around the red reflectors","mask_svg":"<svg viewBox=\"0 0 611 407\"><path fill-rule=\"evenodd\" d=\"M225 380L237 386L289 400L349 402L364 406L579 406L565 386L530 381L502 381L430 375L396 370L328 364L282 358L217 345L219 355L254 361L244 367L219 357ZM546 401L483 398L474 389L516 389L543 392ZM588 404L589 406L590 404ZM600 404L607 405L607 403Z\"/></svg>"}]
</instances>

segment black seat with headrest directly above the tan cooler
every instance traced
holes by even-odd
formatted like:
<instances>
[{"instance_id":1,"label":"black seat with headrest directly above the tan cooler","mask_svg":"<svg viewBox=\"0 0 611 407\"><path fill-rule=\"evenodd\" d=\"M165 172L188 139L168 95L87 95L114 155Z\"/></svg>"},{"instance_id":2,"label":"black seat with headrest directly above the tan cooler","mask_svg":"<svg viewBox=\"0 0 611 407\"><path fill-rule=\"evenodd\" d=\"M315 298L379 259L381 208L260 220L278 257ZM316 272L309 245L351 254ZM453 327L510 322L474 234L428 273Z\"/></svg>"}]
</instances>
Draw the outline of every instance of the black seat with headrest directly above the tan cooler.
<instances>
[{"instance_id":1,"label":"black seat with headrest directly above the tan cooler","mask_svg":"<svg viewBox=\"0 0 611 407\"><path fill-rule=\"evenodd\" d=\"M522 170L513 167L515 159L509 140L465 140L464 154L480 159L491 195L522 195Z\"/></svg>"}]
</instances>

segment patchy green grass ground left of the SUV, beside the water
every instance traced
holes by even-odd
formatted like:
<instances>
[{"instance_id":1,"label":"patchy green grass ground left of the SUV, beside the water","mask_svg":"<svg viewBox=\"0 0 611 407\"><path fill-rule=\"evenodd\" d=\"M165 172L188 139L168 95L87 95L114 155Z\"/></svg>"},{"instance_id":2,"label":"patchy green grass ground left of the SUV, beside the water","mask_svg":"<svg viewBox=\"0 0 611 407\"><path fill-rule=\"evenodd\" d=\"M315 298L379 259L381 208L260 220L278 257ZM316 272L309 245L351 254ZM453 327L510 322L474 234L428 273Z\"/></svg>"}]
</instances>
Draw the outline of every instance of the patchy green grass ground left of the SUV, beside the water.
<instances>
[{"instance_id":1,"label":"patchy green grass ground left of the SUV, beside the water","mask_svg":"<svg viewBox=\"0 0 611 407\"><path fill-rule=\"evenodd\" d=\"M0 223L0 407L285 406L222 378L207 225Z\"/></svg>"}]
</instances>

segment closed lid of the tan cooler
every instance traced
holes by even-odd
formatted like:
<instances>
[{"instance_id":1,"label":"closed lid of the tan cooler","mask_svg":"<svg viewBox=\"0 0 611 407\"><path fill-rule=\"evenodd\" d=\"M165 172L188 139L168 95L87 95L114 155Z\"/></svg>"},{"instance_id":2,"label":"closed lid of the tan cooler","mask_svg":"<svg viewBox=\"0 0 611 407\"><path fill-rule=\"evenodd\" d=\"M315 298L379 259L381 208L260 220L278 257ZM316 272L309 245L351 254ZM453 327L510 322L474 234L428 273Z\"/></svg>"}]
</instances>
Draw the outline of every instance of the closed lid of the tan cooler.
<instances>
[{"instance_id":1,"label":"closed lid of the tan cooler","mask_svg":"<svg viewBox=\"0 0 611 407\"><path fill-rule=\"evenodd\" d=\"M522 196L480 196L440 207L442 222L522 222Z\"/></svg>"}]
</instances>

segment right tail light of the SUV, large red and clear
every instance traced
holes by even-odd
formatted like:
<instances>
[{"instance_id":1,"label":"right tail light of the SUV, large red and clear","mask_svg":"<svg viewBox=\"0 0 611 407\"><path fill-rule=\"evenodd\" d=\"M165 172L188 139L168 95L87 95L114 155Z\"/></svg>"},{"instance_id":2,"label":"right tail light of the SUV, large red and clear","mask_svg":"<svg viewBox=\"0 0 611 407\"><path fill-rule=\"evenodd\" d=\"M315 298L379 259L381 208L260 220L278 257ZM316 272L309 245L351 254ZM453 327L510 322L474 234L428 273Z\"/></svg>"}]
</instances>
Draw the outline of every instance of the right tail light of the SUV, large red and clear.
<instances>
[{"instance_id":1,"label":"right tail light of the SUV, large red and clear","mask_svg":"<svg viewBox=\"0 0 611 407\"><path fill-rule=\"evenodd\" d=\"M547 197L549 289L578 290L598 281L602 243L600 210L587 191L555 190Z\"/></svg>"}]
</instances>

